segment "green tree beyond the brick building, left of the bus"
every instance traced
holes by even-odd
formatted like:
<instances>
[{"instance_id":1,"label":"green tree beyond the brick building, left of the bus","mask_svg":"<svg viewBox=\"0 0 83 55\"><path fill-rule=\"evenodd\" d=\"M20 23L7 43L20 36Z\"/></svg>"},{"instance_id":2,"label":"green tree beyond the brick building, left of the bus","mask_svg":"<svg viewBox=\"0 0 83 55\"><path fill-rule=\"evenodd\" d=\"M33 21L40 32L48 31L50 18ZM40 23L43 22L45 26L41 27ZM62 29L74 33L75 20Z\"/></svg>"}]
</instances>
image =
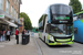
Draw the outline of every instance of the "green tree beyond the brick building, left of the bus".
<instances>
[{"instance_id":1,"label":"green tree beyond the brick building, left of the bus","mask_svg":"<svg viewBox=\"0 0 83 55\"><path fill-rule=\"evenodd\" d=\"M25 30L31 30L32 29L32 23L30 18L27 15L27 13L21 12L20 18L24 18L24 29Z\"/></svg>"}]
</instances>

